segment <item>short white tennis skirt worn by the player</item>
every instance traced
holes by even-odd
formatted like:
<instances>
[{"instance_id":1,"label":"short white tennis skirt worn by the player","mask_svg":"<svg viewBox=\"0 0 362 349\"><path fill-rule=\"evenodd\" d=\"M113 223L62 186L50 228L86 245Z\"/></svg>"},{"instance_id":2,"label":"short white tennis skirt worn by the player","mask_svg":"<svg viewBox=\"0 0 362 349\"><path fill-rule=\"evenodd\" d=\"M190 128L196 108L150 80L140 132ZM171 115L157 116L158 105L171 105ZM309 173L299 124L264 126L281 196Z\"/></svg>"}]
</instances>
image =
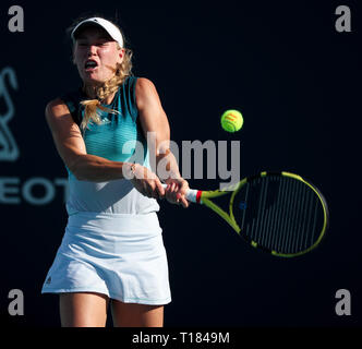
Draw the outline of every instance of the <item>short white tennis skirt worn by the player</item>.
<instances>
[{"instance_id":1,"label":"short white tennis skirt worn by the player","mask_svg":"<svg viewBox=\"0 0 362 349\"><path fill-rule=\"evenodd\" d=\"M156 213L77 213L41 293L98 292L125 303L171 301L168 262Z\"/></svg>"}]
</instances>

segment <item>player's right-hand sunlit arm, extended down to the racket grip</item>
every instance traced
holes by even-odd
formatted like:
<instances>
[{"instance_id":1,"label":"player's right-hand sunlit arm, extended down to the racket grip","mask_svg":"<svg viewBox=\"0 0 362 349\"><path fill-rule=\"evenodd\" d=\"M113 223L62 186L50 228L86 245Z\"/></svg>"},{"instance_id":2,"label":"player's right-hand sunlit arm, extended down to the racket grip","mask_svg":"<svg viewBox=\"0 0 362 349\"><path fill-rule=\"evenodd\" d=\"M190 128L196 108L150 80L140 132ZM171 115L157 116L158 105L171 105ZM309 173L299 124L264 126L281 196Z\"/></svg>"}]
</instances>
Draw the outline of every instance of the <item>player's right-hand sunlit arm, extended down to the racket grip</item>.
<instances>
[{"instance_id":1,"label":"player's right-hand sunlit arm, extended down to the racket grip","mask_svg":"<svg viewBox=\"0 0 362 349\"><path fill-rule=\"evenodd\" d=\"M154 141L148 144L149 152L154 152L156 156L154 171L168 184L166 197L171 202L180 200L182 205L188 207L189 203L184 194L189 183L181 177L177 160L170 151L170 127L156 87L149 80L140 77L136 82L135 95L144 135L147 139L147 133L152 132L148 139Z\"/></svg>"}]
</instances>

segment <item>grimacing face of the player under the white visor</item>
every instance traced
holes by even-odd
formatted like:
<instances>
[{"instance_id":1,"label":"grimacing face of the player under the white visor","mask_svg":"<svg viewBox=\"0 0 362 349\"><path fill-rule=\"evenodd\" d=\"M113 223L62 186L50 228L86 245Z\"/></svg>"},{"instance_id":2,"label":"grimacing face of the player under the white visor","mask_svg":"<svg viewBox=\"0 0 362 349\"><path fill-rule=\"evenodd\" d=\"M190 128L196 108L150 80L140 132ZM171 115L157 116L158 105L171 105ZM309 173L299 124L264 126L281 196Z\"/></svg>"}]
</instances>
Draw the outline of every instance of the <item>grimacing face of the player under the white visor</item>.
<instances>
[{"instance_id":1,"label":"grimacing face of the player under the white visor","mask_svg":"<svg viewBox=\"0 0 362 349\"><path fill-rule=\"evenodd\" d=\"M124 49L101 28L86 27L80 32L73 49L74 63L83 82L98 85L113 76Z\"/></svg>"}]
</instances>

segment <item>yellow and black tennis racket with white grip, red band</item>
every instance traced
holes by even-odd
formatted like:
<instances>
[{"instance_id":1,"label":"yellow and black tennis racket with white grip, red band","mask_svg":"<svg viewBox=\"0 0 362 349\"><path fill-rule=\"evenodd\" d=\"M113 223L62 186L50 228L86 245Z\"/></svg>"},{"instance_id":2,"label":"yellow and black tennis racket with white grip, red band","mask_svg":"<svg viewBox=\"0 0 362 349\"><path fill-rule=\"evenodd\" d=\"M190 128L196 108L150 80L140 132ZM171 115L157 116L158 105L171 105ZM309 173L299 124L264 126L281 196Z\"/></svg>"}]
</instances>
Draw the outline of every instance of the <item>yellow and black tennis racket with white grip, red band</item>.
<instances>
[{"instance_id":1,"label":"yellow and black tennis racket with white grip, red band","mask_svg":"<svg viewBox=\"0 0 362 349\"><path fill-rule=\"evenodd\" d=\"M228 212L212 201L227 194ZM322 193L290 172L261 172L225 190L190 189L185 196L217 213L250 245L275 256L293 257L314 250L328 227Z\"/></svg>"}]
</instances>

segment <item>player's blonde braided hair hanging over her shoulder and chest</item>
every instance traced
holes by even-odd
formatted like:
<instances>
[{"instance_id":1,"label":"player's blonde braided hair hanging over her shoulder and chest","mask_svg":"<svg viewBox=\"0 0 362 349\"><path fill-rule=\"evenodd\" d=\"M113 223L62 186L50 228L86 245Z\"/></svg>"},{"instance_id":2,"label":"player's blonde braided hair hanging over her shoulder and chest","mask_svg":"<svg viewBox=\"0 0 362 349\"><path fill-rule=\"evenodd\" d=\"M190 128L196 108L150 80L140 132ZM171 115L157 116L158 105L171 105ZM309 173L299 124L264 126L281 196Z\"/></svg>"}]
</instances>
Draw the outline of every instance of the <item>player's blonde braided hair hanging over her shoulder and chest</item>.
<instances>
[{"instance_id":1,"label":"player's blonde braided hair hanging over her shoulder and chest","mask_svg":"<svg viewBox=\"0 0 362 349\"><path fill-rule=\"evenodd\" d=\"M99 16L99 15L98 15ZM77 23L81 23L81 21L85 20L85 17L79 19L69 29L68 32L71 32L72 28L76 26ZM113 23L113 22L112 22ZM113 23L121 32L123 36L123 43L124 40L124 35L121 28ZM121 49L121 47L117 44L117 48ZM110 77L108 81L106 81L104 84L96 86L95 87L95 95L96 99L87 99L87 100L82 100L81 105L84 106L84 117L81 122L81 130L85 130L87 127L88 122L92 120L97 124L100 124L100 117L98 113L98 109L107 111L109 113L119 113L118 110L110 109L107 107L104 107L101 105L101 100L105 100L108 96L112 95L114 92L118 91L119 86L125 81L125 79L130 75L132 75L132 50L129 48L124 48L124 56L123 60L121 63L117 63L117 67L114 69L114 75ZM83 86L84 88L84 86Z\"/></svg>"}]
</instances>

